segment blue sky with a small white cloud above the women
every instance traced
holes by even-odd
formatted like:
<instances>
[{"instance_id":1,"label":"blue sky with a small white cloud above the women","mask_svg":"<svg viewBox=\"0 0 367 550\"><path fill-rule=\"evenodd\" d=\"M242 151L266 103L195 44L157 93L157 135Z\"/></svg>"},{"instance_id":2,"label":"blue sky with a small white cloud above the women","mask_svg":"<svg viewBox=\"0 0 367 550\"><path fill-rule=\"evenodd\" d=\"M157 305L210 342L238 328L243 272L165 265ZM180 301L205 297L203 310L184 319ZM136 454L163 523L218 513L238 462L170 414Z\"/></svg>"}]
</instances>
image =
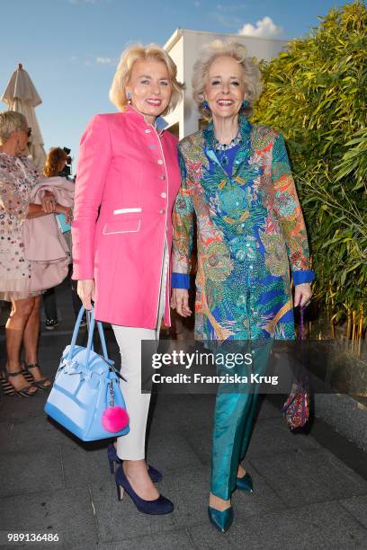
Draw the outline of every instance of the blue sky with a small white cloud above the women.
<instances>
[{"instance_id":1,"label":"blue sky with a small white cloud above the women","mask_svg":"<svg viewBox=\"0 0 367 550\"><path fill-rule=\"evenodd\" d=\"M2 0L0 92L22 62L43 103L45 147L77 146L87 121L114 111L108 91L129 43L163 45L177 27L291 39L318 25L333 0ZM0 110L6 108L1 102Z\"/></svg>"}]
</instances>

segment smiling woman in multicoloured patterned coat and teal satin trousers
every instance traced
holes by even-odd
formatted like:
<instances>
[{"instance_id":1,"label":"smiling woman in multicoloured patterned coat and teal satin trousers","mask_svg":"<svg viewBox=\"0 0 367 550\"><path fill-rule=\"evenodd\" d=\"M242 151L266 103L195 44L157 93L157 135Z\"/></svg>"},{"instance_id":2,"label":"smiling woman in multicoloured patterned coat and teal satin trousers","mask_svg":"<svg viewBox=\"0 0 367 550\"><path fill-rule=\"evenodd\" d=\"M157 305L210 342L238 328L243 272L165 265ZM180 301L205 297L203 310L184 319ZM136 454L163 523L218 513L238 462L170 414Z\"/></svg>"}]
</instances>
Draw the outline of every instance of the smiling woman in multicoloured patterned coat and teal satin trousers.
<instances>
[{"instance_id":1,"label":"smiling woman in multicoloured patterned coat and teal satin trousers","mask_svg":"<svg viewBox=\"0 0 367 550\"><path fill-rule=\"evenodd\" d=\"M293 339L291 280L294 303L304 306L314 274L284 139L247 120L261 90L259 71L242 45L217 40L196 62L192 88L210 122L179 145L172 306L192 313L187 289L196 214L195 338ZM221 531L233 521L231 492L253 491L240 462L255 405L255 393L217 396L209 515Z\"/></svg>"}]
</instances>

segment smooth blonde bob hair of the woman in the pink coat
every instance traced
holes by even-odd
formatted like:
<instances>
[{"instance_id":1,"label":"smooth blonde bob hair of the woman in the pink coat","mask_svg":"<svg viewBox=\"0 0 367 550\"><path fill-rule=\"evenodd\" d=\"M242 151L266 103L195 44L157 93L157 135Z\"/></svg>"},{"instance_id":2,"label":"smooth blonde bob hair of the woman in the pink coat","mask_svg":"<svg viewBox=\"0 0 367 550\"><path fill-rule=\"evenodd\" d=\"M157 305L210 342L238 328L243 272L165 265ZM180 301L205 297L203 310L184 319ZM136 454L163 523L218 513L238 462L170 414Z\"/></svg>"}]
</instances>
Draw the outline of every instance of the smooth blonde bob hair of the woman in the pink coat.
<instances>
[{"instance_id":1,"label":"smooth blonde bob hair of the woman in the pink coat","mask_svg":"<svg viewBox=\"0 0 367 550\"><path fill-rule=\"evenodd\" d=\"M166 51L159 48L157 44L148 44L143 46L142 44L133 44L129 48L125 49L121 54L121 59L115 75L113 76L112 86L110 89L110 101L120 111L125 111L128 100L126 98L126 85L130 81L132 67L139 59L154 59L161 61L167 67L170 83L172 86L171 100L162 114L173 111L175 106L181 101L183 94L183 84L177 81L177 67L173 60L169 57Z\"/></svg>"}]
</instances>

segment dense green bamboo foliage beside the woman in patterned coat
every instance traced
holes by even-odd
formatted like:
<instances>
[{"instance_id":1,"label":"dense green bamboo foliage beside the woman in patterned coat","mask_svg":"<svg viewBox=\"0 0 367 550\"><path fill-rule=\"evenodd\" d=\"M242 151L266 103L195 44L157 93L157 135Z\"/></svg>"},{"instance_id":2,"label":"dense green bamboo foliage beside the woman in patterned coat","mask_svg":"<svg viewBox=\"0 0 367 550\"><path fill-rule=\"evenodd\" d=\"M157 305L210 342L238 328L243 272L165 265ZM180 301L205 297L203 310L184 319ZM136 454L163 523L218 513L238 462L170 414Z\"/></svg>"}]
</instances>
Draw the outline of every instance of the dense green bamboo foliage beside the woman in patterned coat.
<instances>
[{"instance_id":1,"label":"dense green bamboo foliage beside the woman in patterned coat","mask_svg":"<svg viewBox=\"0 0 367 550\"><path fill-rule=\"evenodd\" d=\"M262 65L254 120L287 138L316 292L336 321L367 303L367 10L331 10Z\"/></svg>"}]
</instances>

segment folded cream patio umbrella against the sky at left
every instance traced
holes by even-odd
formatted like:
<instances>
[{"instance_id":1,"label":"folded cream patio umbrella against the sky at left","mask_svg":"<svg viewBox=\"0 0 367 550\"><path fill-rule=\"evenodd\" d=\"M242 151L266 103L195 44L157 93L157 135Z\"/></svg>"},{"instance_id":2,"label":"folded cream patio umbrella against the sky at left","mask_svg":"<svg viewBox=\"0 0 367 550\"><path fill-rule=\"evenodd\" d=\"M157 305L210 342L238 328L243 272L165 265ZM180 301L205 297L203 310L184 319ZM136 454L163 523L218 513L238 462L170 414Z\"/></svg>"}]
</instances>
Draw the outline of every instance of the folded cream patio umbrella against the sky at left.
<instances>
[{"instance_id":1,"label":"folded cream patio umbrella against the sky at left","mask_svg":"<svg viewBox=\"0 0 367 550\"><path fill-rule=\"evenodd\" d=\"M42 172L46 153L35 111L35 107L40 105L42 100L31 82L30 75L22 68L22 63L19 63L18 68L13 72L1 100L7 104L9 111L22 112L27 119L31 128L28 152L40 172Z\"/></svg>"}]
</instances>

